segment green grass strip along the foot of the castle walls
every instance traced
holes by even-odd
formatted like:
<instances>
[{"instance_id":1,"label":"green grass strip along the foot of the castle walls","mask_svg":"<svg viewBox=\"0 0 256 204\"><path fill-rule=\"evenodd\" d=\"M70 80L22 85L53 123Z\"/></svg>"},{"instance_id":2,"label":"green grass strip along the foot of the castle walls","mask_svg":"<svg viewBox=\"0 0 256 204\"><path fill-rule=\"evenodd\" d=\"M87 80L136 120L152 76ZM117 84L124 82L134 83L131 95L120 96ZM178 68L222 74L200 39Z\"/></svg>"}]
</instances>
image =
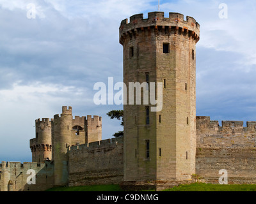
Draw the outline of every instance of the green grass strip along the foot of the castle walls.
<instances>
[{"instance_id":1,"label":"green grass strip along the foot of the castle walls","mask_svg":"<svg viewBox=\"0 0 256 204\"><path fill-rule=\"evenodd\" d=\"M122 191L118 185L54 187L47 191ZM256 191L256 185L220 185L195 183L180 185L164 191Z\"/></svg>"}]
</instances>

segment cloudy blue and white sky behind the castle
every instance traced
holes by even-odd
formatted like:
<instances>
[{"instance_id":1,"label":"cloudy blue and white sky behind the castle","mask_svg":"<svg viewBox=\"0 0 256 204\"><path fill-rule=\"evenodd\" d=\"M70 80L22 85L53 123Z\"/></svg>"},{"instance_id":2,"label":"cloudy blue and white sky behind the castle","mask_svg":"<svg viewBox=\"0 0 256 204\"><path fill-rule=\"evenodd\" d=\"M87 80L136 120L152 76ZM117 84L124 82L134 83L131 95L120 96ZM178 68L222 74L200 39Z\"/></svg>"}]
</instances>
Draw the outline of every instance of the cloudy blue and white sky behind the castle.
<instances>
[{"instance_id":1,"label":"cloudy blue and white sky behind the castle","mask_svg":"<svg viewBox=\"0 0 256 204\"><path fill-rule=\"evenodd\" d=\"M101 115L103 139L122 130L120 121L106 115L122 106L95 105L93 85L107 84L108 77L122 82L120 22L137 13L147 18L157 4L0 0L0 162L31 161L35 119L52 118L61 106L72 106L73 115ZM200 24L196 115L243 120L244 126L256 120L256 2L161 0L161 11Z\"/></svg>"}]
</instances>

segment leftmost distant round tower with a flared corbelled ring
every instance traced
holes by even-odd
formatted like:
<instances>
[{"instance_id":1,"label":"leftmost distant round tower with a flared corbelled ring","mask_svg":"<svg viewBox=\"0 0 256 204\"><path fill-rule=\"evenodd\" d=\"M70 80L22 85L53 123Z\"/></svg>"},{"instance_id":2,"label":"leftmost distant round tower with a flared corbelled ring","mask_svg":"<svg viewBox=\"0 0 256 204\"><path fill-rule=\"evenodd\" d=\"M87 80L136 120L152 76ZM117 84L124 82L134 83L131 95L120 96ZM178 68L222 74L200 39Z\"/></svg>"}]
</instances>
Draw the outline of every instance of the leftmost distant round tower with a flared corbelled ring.
<instances>
[{"instance_id":1,"label":"leftmost distant round tower with a flared corbelled ring","mask_svg":"<svg viewBox=\"0 0 256 204\"><path fill-rule=\"evenodd\" d=\"M52 127L49 119L35 120L36 138L30 140L32 162L44 162L52 158Z\"/></svg>"}]
</instances>

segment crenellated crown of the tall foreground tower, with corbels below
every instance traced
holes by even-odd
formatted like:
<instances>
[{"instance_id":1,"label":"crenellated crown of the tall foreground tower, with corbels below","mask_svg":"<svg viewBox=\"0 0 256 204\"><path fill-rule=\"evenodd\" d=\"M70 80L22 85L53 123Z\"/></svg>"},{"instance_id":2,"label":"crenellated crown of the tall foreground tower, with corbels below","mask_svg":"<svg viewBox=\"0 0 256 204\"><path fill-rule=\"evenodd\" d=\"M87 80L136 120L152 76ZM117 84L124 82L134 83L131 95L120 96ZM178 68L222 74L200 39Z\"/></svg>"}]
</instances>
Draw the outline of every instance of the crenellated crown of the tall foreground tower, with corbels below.
<instances>
[{"instance_id":1,"label":"crenellated crown of the tall foreground tower, with corbels below","mask_svg":"<svg viewBox=\"0 0 256 204\"><path fill-rule=\"evenodd\" d=\"M186 17L180 13L169 13L169 17L164 17L164 12L150 12L148 18L143 18L143 13L132 15L130 21L124 19L120 25L120 43L123 43L123 38L132 33L140 31L164 31L165 33L188 33L188 36L196 42L200 39L200 25L192 17Z\"/></svg>"}]
</instances>

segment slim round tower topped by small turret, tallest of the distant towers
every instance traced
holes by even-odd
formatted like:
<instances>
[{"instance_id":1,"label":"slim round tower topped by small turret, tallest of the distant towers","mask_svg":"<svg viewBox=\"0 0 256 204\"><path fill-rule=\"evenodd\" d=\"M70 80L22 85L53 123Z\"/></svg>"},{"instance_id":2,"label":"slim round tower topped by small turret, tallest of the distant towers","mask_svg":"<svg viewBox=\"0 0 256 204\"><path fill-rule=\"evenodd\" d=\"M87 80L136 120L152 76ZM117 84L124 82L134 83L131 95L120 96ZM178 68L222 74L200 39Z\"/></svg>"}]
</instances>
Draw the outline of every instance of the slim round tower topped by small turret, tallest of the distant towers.
<instances>
[{"instance_id":1,"label":"slim round tower topped by small turret, tallest of the distant towers","mask_svg":"<svg viewBox=\"0 0 256 204\"><path fill-rule=\"evenodd\" d=\"M62 107L60 115L52 121L52 160L54 161L54 184L63 186L68 183L68 146L72 145L72 108Z\"/></svg>"}]
</instances>

